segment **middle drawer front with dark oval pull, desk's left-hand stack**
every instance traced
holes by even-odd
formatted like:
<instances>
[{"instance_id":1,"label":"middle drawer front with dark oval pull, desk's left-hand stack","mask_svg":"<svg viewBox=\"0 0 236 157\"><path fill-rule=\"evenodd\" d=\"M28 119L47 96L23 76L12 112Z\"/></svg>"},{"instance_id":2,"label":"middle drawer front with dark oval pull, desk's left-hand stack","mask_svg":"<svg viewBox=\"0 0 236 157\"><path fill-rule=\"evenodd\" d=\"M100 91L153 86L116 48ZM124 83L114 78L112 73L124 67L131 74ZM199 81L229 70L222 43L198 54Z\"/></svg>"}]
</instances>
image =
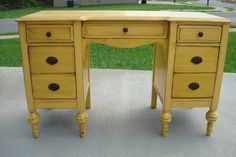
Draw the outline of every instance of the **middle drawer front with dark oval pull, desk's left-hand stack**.
<instances>
[{"instance_id":1,"label":"middle drawer front with dark oval pull, desk's left-hand stack","mask_svg":"<svg viewBox=\"0 0 236 157\"><path fill-rule=\"evenodd\" d=\"M29 47L32 73L73 73L73 47Z\"/></svg>"}]
</instances>

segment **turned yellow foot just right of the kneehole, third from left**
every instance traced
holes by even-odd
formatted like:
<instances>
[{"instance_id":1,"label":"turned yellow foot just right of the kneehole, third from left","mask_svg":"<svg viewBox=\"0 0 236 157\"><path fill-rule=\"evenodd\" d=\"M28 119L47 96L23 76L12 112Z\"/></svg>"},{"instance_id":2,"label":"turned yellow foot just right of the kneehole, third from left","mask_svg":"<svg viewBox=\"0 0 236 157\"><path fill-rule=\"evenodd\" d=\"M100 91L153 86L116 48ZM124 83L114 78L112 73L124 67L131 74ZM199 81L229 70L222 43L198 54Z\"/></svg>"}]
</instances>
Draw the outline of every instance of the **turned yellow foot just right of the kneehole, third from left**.
<instances>
[{"instance_id":1,"label":"turned yellow foot just right of the kneehole, third from left","mask_svg":"<svg viewBox=\"0 0 236 157\"><path fill-rule=\"evenodd\" d=\"M163 137L167 136L168 126L171 121L171 114L169 112L161 113L161 135Z\"/></svg>"}]
</instances>

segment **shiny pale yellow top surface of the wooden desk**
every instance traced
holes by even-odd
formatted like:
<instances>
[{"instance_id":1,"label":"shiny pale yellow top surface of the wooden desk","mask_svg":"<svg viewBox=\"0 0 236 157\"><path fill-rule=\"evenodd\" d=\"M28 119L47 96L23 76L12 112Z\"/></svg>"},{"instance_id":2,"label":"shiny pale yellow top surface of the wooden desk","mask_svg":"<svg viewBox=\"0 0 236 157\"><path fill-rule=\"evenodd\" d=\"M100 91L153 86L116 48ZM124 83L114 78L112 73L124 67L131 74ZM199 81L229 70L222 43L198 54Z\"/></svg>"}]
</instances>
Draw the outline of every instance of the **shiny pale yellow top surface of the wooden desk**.
<instances>
[{"instance_id":1,"label":"shiny pale yellow top surface of the wooden desk","mask_svg":"<svg viewBox=\"0 0 236 157\"><path fill-rule=\"evenodd\" d=\"M94 20L230 22L226 18L206 13L172 11L40 11L17 19L17 21Z\"/></svg>"}]
</instances>

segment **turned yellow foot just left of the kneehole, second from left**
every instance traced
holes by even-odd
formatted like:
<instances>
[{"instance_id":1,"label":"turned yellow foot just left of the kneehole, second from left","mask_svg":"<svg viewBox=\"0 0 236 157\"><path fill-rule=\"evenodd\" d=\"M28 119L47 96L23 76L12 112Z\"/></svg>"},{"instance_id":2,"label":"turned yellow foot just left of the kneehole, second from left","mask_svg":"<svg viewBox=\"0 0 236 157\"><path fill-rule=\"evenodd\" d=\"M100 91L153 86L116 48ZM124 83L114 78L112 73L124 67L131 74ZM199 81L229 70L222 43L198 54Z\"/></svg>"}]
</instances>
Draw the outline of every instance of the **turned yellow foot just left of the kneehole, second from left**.
<instances>
[{"instance_id":1,"label":"turned yellow foot just left of the kneehole, second from left","mask_svg":"<svg viewBox=\"0 0 236 157\"><path fill-rule=\"evenodd\" d=\"M84 135L85 135L87 120L88 120L88 115L85 112L78 113L76 115L76 121L77 121L77 123L79 125L79 129L80 129L80 137L84 137Z\"/></svg>"}]
</instances>

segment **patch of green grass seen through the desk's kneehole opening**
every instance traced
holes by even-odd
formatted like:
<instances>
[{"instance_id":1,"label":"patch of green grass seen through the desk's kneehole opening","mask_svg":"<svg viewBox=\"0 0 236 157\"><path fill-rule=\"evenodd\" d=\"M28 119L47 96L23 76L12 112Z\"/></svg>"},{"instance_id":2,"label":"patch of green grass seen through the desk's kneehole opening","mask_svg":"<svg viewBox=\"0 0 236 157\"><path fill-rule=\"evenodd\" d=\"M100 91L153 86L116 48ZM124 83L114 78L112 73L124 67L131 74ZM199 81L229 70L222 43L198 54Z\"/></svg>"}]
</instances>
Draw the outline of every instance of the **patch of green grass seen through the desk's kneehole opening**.
<instances>
[{"instance_id":1,"label":"patch of green grass seen through the desk's kneehole opening","mask_svg":"<svg viewBox=\"0 0 236 157\"><path fill-rule=\"evenodd\" d=\"M152 68L152 58L152 45L137 48L113 48L101 44L90 46L92 68L149 70Z\"/></svg>"}]
</instances>

